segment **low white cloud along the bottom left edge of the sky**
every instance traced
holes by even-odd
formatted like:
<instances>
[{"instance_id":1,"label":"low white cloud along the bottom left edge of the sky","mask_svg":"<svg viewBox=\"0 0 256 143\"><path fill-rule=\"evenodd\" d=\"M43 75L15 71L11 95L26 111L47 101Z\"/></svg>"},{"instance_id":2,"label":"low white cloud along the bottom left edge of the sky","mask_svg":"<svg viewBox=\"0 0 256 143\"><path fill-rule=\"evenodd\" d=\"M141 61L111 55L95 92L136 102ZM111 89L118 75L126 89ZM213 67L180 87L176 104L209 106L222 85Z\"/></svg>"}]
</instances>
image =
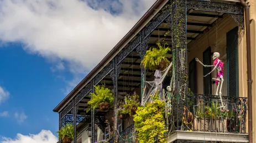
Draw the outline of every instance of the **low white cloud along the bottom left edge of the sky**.
<instances>
[{"instance_id":1,"label":"low white cloud along the bottom left edge of the sky","mask_svg":"<svg viewBox=\"0 0 256 143\"><path fill-rule=\"evenodd\" d=\"M53 133L49 130L41 130L39 134L33 135L22 135L17 134L15 139L2 138L1 143L56 143L58 138L56 138Z\"/></svg>"}]
</instances>

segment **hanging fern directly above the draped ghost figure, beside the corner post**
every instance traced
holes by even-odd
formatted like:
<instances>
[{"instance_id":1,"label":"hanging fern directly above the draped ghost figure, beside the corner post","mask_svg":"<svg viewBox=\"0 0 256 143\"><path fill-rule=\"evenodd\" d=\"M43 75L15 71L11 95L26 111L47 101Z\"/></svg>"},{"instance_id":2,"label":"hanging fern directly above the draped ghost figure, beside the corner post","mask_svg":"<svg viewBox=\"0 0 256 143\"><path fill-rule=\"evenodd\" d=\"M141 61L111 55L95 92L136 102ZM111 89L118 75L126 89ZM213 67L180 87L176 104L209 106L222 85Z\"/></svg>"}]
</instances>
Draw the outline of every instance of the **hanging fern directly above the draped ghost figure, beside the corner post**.
<instances>
[{"instance_id":1,"label":"hanging fern directly above the draped ghost figure, beside the corner post","mask_svg":"<svg viewBox=\"0 0 256 143\"><path fill-rule=\"evenodd\" d=\"M144 68L150 70L164 70L170 64L170 61L166 58L168 52L171 51L170 47L165 47L167 43L164 43L163 46L161 43L157 43L157 45L159 48L150 48L150 50L146 52L141 63Z\"/></svg>"}]
</instances>

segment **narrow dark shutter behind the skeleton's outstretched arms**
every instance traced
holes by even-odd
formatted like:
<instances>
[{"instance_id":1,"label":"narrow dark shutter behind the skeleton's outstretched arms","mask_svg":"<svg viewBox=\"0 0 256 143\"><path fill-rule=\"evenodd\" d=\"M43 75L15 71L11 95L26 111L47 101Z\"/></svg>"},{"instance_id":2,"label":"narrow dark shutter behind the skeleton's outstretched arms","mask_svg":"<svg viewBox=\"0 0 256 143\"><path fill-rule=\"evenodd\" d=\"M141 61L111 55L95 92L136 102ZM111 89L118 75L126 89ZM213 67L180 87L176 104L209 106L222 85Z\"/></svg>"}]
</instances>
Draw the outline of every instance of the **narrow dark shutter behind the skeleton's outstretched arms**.
<instances>
[{"instance_id":1,"label":"narrow dark shutter behind the skeleton's outstretched arms","mask_svg":"<svg viewBox=\"0 0 256 143\"><path fill-rule=\"evenodd\" d=\"M212 65L212 53L211 47L208 47L205 52L203 52L203 64ZM206 75L211 72L211 67L203 67L203 75ZM212 77L207 75L203 77L203 94L212 95Z\"/></svg>"}]
</instances>

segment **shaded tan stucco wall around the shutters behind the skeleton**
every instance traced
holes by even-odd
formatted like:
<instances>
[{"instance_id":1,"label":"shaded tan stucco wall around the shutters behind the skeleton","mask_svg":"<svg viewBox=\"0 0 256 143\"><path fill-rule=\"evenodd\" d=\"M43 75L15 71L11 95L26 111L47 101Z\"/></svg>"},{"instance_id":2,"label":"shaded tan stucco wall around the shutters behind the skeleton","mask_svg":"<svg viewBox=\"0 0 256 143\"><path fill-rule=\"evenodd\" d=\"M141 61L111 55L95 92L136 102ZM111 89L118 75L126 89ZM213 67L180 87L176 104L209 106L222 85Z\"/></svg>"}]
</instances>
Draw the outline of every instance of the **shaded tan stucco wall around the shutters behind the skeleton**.
<instances>
[{"instance_id":1,"label":"shaded tan stucco wall around the shutters behind the skeleton","mask_svg":"<svg viewBox=\"0 0 256 143\"><path fill-rule=\"evenodd\" d=\"M194 58L198 58L201 62L203 61L203 52L208 48L211 47L211 51L215 51L216 46L216 34L217 34L217 42L218 42L218 48L216 52L220 53L220 59L225 59L226 54L226 33L230 30L232 30L234 27L237 26L237 23L233 20L231 16L224 17L223 20L218 21L217 31L216 27L213 27L210 29L210 31L205 33L202 37L198 37L197 41L191 42L187 45L187 48L189 50L188 52L188 63L192 61ZM242 36L239 35L239 50L241 50L242 47ZM241 57L240 55L238 57ZM203 94L203 66L200 63L196 63L196 77L197 77L197 94ZM225 65L224 65L225 66ZM188 66L189 67L189 66ZM241 65L239 65L241 67ZM224 71L225 72L225 71ZM225 74L225 73L224 73ZM242 72L239 71L239 75L242 74ZM212 77L215 77L216 73L212 73ZM224 75L226 76L226 75ZM240 77L240 76L239 76ZM225 80L225 77L224 77ZM240 78L239 78L240 80ZM224 81L223 88L222 88L222 95L226 93L226 87ZM242 84L241 84L242 85ZM243 95L244 89L242 89L242 86L240 87L239 84L239 95ZM212 94L216 94L216 86L213 85Z\"/></svg>"}]
</instances>

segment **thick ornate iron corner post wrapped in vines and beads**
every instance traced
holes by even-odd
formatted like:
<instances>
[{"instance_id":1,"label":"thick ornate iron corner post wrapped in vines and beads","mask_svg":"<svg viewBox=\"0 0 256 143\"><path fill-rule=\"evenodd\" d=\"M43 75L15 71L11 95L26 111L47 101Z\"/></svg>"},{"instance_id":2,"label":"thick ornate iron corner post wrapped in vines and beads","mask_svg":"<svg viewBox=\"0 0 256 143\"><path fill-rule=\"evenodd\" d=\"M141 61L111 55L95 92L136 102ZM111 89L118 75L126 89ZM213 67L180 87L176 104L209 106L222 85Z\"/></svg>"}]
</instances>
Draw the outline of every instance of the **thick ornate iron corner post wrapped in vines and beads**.
<instances>
[{"instance_id":1,"label":"thick ornate iron corner post wrapped in vines and beads","mask_svg":"<svg viewBox=\"0 0 256 143\"><path fill-rule=\"evenodd\" d=\"M175 64L176 100L174 101L174 115L176 116L176 127L179 130L182 108L185 106L187 94L187 46L186 46L186 0L175 0L172 5L172 30L173 30L173 52ZM176 112L176 113L175 113Z\"/></svg>"}]
</instances>

